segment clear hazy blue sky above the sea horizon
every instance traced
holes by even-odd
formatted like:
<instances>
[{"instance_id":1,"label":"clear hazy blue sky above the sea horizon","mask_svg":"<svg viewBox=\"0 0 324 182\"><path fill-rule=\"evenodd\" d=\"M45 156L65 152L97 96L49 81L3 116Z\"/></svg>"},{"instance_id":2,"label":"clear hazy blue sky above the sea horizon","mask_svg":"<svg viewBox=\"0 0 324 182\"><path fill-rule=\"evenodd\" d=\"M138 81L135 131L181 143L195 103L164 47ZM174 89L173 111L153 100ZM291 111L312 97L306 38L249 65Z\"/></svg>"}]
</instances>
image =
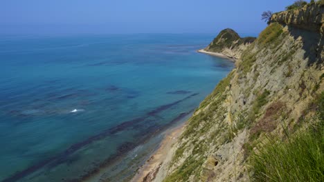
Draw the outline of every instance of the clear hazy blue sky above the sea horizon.
<instances>
[{"instance_id":1,"label":"clear hazy blue sky above the sea horizon","mask_svg":"<svg viewBox=\"0 0 324 182\"><path fill-rule=\"evenodd\" d=\"M258 34L294 0L1 0L0 34Z\"/></svg>"}]
</instances>

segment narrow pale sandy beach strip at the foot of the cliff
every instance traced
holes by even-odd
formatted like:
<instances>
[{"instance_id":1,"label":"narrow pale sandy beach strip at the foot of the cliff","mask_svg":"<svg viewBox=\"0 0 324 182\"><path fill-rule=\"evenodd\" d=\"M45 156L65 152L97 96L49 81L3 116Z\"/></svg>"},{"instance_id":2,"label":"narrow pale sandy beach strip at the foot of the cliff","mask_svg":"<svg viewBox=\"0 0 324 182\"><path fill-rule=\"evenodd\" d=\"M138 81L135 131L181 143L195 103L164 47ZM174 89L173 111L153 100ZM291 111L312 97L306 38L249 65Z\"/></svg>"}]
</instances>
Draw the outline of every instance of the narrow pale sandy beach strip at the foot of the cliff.
<instances>
[{"instance_id":1,"label":"narrow pale sandy beach strip at the foot of the cliff","mask_svg":"<svg viewBox=\"0 0 324 182\"><path fill-rule=\"evenodd\" d=\"M138 172L132 178L132 182L162 181L163 174L167 172L165 167L168 162L171 161L175 150L175 148L173 148L174 143L176 143L179 136L181 136L186 123L187 121L165 132L165 136L159 148L154 151L150 158L145 161L144 165L139 168ZM162 175L157 175L158 173Z\"/></svg>"}]
</instances>

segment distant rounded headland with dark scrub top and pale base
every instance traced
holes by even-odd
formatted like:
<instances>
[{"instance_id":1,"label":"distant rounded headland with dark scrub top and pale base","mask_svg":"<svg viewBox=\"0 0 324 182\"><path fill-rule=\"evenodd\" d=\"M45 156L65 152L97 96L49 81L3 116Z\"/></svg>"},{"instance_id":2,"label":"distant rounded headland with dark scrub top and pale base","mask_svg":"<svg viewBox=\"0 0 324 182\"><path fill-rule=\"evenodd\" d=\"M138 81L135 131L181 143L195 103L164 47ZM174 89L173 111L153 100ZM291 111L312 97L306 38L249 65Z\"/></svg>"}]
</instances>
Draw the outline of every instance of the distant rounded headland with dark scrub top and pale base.
<instances>
[{"instance_id":1,"label":"distant rounded headland with dark scrub top and pale base","mask_svg":"<svg viewBox=\"0 0 324 182\"><path fill-rule=\"evenodd\" d=\"M241 38L237 32L227 28L222 30L204 50L218 52L233 59L240 59L242 52L253 41L255 41L255 37Z\"/></svg>"}]
</instances>

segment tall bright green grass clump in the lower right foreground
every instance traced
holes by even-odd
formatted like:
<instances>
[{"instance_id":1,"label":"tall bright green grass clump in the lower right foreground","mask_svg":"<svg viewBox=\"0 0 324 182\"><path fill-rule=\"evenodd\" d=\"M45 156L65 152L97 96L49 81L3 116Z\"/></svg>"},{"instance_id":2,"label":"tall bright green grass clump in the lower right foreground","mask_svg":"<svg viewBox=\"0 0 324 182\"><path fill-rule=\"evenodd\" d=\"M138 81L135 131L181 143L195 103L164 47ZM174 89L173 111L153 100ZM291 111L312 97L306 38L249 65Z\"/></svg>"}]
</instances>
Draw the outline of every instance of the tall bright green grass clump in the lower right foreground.
<instances>
[{"instance_id":1,"label":"tall bright green grass clump in the lower right foreground","mask_svg":"<svg viewBox=\"0 0 324 182\"><path fill-rule=\"evenodd\" d=\"M253 181L324 181L324 92L318 100L318 122L269 142L251 156Z\"/></svg>"}]
</instances>

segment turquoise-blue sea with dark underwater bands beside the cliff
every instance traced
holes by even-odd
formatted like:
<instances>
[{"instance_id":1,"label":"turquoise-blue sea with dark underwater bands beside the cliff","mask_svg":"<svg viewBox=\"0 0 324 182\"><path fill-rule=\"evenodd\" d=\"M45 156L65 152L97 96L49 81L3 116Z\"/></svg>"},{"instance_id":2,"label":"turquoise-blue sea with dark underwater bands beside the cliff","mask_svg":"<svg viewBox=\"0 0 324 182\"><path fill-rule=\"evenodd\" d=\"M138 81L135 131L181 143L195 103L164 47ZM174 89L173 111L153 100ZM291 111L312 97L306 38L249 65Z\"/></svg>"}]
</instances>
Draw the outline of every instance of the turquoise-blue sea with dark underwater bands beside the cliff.
<instances>
[{"instance_id":1,"label":"turquoise-blue sea with dark underwater bands beside the cliff","mask_svg":"<svg viewBox=\"0 0 324 182\"><path fill-rule=\"evenodd\" d=\"M233 69L196 52L212 38L1 37L0 181L81 181L112 163L101 178L124 180L127 156L158 143Z\"/></svg>"}]
</instances>

